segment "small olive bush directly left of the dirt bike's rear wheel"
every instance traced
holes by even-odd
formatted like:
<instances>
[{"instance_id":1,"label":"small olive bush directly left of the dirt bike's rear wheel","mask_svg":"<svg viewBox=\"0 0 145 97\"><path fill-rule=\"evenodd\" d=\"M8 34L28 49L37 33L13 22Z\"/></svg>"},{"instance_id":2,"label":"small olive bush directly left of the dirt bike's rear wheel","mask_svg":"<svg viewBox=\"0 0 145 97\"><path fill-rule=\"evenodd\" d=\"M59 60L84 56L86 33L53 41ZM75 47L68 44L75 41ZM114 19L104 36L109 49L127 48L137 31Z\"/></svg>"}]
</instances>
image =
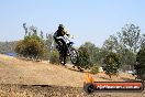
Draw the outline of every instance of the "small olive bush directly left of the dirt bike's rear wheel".
<instances>
[{"instance_id":1,"label":"small olive bush directly left of the dirt bike's rear wheel","mask_svg":"<svg viewBox=\"0 0 145 97\"><path fill-rule=\"evenodd\" d=\"M59 64L59 53L56 50L53 50L49 57L49 63Z\"/></svg>"}]
</instances>

